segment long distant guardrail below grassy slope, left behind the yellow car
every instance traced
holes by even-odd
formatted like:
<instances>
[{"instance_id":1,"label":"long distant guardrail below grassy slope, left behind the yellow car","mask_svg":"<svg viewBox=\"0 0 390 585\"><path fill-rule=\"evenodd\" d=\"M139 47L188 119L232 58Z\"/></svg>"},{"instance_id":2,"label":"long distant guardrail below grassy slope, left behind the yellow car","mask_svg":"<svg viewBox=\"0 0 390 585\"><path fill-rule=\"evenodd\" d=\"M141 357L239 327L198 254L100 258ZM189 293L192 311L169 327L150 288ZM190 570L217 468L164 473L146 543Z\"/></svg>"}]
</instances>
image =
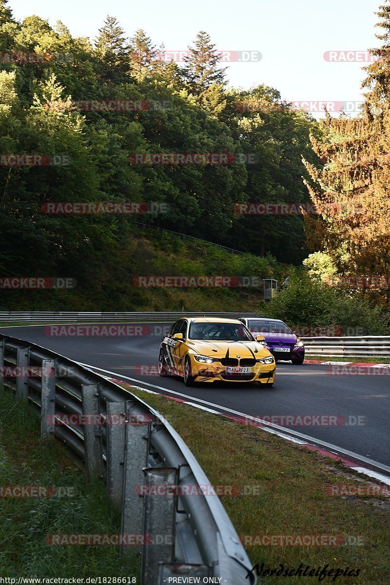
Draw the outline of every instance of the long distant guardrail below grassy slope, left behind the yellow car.
<instances>
[{"instance_id":1,"label":"long distant guardrail below grassy slope, left behind the yellow car","mask_svg":"<svg viewBox=\"0 0 390 585\"><path fill-rule=\"evenodd\" d=\"M226 312L154 312L154 311L133 311L133 312L88 312L88 311L0 311L0 322L33 322L33 323L61 323L67 321L88 321L122 323L131 322L152 322L152 321L176 321L180 317L227 317L237 318L243 311L236 313ZM262 317L263 313L245 313L249 317Z\"/></svg>"}]
</instances>

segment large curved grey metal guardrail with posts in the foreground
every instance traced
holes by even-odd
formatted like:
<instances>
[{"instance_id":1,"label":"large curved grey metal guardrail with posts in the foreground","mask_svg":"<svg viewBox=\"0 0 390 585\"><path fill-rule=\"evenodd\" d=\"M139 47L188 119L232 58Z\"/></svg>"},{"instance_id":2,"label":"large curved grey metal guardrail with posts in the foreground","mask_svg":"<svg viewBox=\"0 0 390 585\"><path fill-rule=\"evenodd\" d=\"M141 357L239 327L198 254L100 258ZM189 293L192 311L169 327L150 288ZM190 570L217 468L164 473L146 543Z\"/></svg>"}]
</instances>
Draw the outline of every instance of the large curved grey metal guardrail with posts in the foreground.
<instances>
[{"instance_id":1,"label":"large curved grey metal guardrail with posts in the foreground","mask_svg":"<svg viewBox=\"0 0 390 585\"><path fill-rule=\"evenodd\" d=\"M10 368L15 376L4 376ZM227 585L256 583L253 573L246 579L249 558L217 495L194 497L183 490L167 497L138 495L156 484L210 486L187 445L156 410L77 362L2 334L0 372L0 390L11 388L39 409L42 436L56 436L89 479L105 481L122 512L120 534L151 538L122 545L129 558L140 555L141 585L165 585L178 575L214 577L208 582ZM93 424L55 424L65 415L96 418ZM107 424L112 417L126 424ZM162 543L153 540L156 535L160 541L164 536Z\"/></svg>"}]
</instances>

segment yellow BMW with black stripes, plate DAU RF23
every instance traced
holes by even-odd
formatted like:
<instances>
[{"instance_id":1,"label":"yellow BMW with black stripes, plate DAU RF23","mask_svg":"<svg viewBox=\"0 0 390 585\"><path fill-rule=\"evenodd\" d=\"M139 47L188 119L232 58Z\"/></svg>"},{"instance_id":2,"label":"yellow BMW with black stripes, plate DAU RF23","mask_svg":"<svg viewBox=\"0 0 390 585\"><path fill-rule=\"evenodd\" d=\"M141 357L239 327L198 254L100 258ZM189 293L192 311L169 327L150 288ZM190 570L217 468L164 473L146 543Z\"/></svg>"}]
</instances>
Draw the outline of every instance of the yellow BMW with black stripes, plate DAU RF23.
<instances>
[{"instance_id":1,"label":"yellow BMW with black stripes, plate DAU RF23","mask_svg":"<svg viewBox=\"0 0 390 585\"><path fill-rule=\"evenodd\" d=\"M182 317L164 336L158 356L160 376L176 374L194 382L257 382L271 387L275 359L239 319Z\"/></svg>"}]
</instances>

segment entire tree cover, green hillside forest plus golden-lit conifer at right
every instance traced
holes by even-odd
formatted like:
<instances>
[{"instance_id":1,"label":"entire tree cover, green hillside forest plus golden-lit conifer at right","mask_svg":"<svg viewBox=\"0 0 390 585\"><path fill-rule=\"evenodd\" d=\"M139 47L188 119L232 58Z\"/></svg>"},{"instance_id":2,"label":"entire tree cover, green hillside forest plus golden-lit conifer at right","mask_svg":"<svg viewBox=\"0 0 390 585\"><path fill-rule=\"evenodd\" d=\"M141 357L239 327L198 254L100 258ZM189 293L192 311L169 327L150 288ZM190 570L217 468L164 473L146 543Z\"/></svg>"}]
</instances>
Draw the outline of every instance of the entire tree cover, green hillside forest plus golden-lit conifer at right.
<instances>
[{"instance_id":1,"label":"entire tree cover, green hillside forest plus golden-lit conifer at right","mask_svg":"<svg viewBox=\"0 0 390 585\"><path fill-rule=\"evenodd\" d=\"M383 46L372 50L363 112L318 122L261 80L230 87L204 31L178 63L113 16L94 40L75 38L61 22L16 21L0 0L0 273L69 276L108 298L116 274L129 271L131 281L139 270L127 255L141 222L263 257L261 276L284 278L286 265L303 261L327 285L346 274L386 277L388 0L379 16ZM50 214L52 202L135 202L147 212ZM246 204L313 204L315 212L240 212ZM363 289L388 304L388 280ZM10 299L4 291L3 308Z\"/></svg>"}]
</instances>

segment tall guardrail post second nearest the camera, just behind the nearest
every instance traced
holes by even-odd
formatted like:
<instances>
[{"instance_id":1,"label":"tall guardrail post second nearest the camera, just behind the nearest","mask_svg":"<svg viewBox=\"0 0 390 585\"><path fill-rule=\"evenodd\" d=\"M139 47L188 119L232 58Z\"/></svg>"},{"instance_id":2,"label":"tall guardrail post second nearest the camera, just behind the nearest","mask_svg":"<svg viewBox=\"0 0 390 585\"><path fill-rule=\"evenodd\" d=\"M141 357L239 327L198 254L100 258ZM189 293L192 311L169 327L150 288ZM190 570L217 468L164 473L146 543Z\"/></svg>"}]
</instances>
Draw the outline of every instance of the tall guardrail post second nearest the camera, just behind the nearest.
<instances>
[{"instance_id":1,"label":"tall guardrail post second nearest the camera, just behind the nearest","mask_svg":"<svg viewBox=\"0 0 390 585\"><path fill-rule=\"evenodd\" d=\"M122 521L120 531L122 534L143 534L143 507L144 500L142 497L145 476L144 467L147 465L147 456L149 453L149 424L132 424L132 414L130 413L131 403L127 402L127 424L126 424L126 442L125 442L125 466L123 474L123 495L122 495ZM122 546L122 554L127 553L129 556L139 554L141 551L141 542L139 546L132 546L130 549L127 545ZM126 547L126 548L125 548Z\"/></svg>"}]
</instances>

